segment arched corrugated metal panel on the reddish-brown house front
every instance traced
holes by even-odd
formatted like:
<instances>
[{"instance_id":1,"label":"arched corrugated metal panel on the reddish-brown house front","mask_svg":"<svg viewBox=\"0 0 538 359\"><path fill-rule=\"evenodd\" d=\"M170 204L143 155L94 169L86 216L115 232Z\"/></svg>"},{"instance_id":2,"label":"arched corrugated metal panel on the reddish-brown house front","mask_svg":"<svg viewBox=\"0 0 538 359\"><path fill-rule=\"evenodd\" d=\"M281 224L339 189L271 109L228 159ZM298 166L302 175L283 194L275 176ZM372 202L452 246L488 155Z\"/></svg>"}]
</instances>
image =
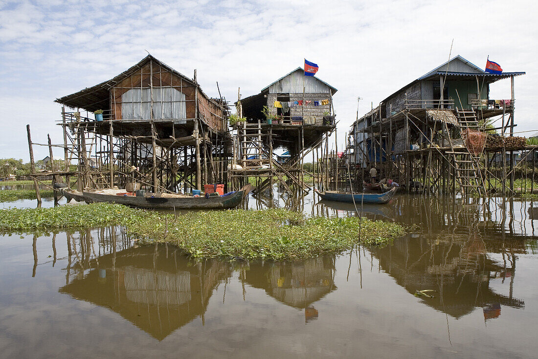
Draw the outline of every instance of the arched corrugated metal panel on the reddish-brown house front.
<instances>
[{"instance_id":1,"label":"arched corrugated metal panel on the reddish-brown house front","mask_svg":"<svg viewBox=\"0 0 538 359\"><path fill-rule=\"evenodd\" d=\"M153 88L153 118L187 118L186 96L171 87ZM150 119L151 89L132 88L122 95L122 119Z\"/></svg>"}]
</instances>

